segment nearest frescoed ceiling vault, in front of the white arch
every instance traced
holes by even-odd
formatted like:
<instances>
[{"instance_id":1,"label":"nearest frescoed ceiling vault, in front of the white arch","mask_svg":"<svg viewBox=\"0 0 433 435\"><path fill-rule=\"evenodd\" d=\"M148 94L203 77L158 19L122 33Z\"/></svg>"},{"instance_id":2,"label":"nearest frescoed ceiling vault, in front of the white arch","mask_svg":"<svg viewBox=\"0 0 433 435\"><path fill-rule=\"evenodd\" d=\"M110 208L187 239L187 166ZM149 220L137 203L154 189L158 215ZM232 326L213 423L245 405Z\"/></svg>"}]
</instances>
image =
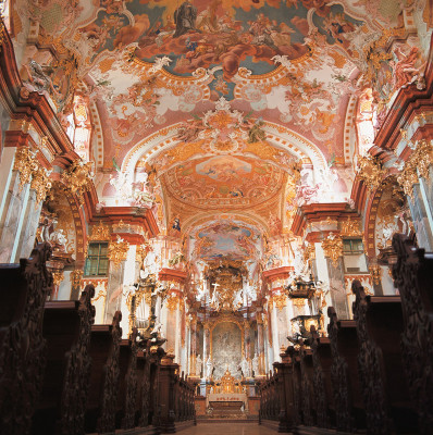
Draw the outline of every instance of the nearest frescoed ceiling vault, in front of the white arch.
<instances>
[{"instance_id":1,"label":"nearest frescoed ceiling vault, in front of the white arch","mask_svg":"<svg viewBox=\"0 0 433 435\"><path fill-rule=\"evenodd\" d=\"M32 17L38 47L46 48L24 50L28 85L42 87L59 111L74 88L96 101L106 169L144 136L201 117L221 97L344 162L345 110L349 95L366 85L360 75L378 84L386 105L408 79L403 63L422 69L423 53L411 51L403 27L401 8L413 3L45 0L16 1L12 15L17 41ZM371 55L382 37L398 32L401 42L391 57ZM398 64L401 78L385 83Z\"/></svg>"}]
</instances>

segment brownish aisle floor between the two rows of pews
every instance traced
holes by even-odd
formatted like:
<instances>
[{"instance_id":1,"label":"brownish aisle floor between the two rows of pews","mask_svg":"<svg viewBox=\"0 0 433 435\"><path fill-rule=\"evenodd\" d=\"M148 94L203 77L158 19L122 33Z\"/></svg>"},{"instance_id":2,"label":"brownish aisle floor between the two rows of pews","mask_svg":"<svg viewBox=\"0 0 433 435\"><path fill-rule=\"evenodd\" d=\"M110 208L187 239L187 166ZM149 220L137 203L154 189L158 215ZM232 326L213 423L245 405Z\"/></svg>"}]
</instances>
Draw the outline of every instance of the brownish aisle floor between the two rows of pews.
<instances>
[{"instance_id":1,"label":"brownish aisle floor between the two rows of pews","mask_svg":"<svg viewBox=\"0 0 433 435\"><path fill-rule=\"evenodd\" d=\"M257 423L197 423L197 426L180 432L181 435L275 435Z\"/></svg>"}]
</instances>

